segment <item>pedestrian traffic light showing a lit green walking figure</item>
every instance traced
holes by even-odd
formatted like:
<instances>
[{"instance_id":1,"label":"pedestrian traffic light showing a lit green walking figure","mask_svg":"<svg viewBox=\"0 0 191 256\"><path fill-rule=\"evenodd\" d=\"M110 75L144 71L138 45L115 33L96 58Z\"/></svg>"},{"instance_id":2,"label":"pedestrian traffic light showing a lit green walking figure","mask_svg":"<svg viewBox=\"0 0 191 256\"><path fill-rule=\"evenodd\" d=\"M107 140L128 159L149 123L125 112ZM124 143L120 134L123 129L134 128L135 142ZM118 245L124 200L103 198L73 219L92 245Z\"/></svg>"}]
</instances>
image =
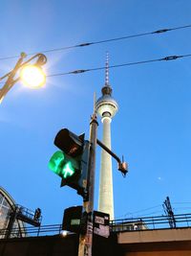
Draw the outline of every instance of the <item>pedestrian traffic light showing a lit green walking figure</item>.
<instances>
[{"instance_id":1,"label":"pedestrian traffic light showing a lit green walking figure","mask_svg":"<svg viewBox=\"0 0 191 256\"><path fill-rule=\"evenodd\" d=\"M63 128L56 134L54 145L61 151L53 153L49 168L62 178L61 187L70 186L87 198L89 141L84 140L84 134L77 136Z\"/></svg>"}]
</instances>

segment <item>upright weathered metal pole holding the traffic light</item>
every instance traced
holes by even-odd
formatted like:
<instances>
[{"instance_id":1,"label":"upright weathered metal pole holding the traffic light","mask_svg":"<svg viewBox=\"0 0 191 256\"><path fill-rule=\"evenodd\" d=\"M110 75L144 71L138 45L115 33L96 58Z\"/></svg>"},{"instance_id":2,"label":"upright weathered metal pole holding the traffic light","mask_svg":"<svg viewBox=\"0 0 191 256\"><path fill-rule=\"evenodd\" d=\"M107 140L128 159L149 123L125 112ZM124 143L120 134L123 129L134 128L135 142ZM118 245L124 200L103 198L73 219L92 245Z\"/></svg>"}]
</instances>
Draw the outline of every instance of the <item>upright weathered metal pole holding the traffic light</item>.
<instances>
[{"instance_id":1,"label":"upright weathered metal pole holding the traffic light","mask_svg":"<svg viewBox=\"0 0 191 256\"><path fill-rule=\"evenodd\" d=\"M78 256L92 256L93 246L93 211L95 198L95 171L96 171L96 129L98 123L96 121L96 111L94 111L90 122L90 156L88 167L88 201L84 201L84 211L88 213L87 232L85 235L80 234Z\"/></svg>"}]
</instances>

